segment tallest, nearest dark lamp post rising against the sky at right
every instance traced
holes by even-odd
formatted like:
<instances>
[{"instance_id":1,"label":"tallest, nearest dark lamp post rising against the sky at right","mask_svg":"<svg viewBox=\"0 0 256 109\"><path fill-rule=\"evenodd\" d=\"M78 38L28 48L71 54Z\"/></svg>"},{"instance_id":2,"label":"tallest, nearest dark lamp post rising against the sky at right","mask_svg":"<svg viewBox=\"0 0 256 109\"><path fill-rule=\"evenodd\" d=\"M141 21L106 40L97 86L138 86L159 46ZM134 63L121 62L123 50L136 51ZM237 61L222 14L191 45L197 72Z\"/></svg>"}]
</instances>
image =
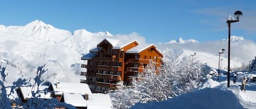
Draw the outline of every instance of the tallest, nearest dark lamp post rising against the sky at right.
<instances>
[{"instance_id":1,"label":"tallest, nearest dark lamp post rising against the sky at right","mask_svg":"<svg viewBox=\"0 0 256 109\"><path fill-rule=\"evenodd\" d=\"M229 15L228 17L228 20L227 20L227 23L228 23L228 27L229 27L229 44L228 44L228 87L229 86L229 81L230 81L230 25L231 23L234 23L234 22L239 22L240 20L240 16L242 16L242 12L241 11L236 11L234 13L234 17L232 17L231 15Z\"/></svg>"}]
</instances>

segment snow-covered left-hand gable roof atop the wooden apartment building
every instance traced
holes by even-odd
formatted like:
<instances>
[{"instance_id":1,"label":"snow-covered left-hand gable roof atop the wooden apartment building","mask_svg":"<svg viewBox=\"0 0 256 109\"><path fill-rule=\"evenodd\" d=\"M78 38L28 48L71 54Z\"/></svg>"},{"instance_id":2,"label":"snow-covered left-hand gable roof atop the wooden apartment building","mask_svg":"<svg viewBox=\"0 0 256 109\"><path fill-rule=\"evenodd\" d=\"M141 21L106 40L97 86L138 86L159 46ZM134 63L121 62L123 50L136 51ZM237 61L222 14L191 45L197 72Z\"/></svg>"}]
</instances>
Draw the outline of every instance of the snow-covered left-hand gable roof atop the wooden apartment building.
<instances>
[{"instance_id":1,"label":"snow-covered left-hand gable roof atop the wooden apartment building","mask_svg":"<svg viewBox=\"0 0 256 109\"><path fill-rule=\"evenodd\" d=\"M103 41L105 41L105 40L108 41L110 44L112 44L113 49L121 49L121 48L127 46L128 44L130 44L130 43L132 43L132 42L137 42L137 43L139 43L139 42L136 41L136 40L128 41L128 40L117 40L117 39L109 39L109 38L106 38L106 39L104 39ZM102 41L102 42L103 42L103 41ZM100 42L100 43L102 43L102 42ZM99 43L99 44L100 44L100 43Z\"/></svg>"}]
</instances>

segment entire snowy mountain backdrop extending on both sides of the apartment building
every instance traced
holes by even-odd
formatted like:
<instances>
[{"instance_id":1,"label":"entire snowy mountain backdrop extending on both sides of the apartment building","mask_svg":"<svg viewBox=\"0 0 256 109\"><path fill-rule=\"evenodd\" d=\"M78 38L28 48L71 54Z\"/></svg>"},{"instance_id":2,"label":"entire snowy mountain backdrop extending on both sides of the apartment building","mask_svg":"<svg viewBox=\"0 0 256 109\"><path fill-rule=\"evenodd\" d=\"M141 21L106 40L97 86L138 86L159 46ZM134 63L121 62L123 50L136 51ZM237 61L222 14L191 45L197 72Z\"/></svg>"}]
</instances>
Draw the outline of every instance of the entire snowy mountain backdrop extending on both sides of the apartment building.
<instances>
[{"instance_id":1,"label":"entire snowy mountain backdrop extending on both sides of the apartment building","mask_svg":"<svg viewBox=\"0 0 256 109\"><path fill-rule=\"evenodd\" d=\"M35 20L24 26L0 25L1 62L8 60L8 81L17 78L30 78L35 68L47 63L49 69L45 79L49 81L79 82L81 56L96 47L105 38L119 40L137 40L146 43L146 39L137 33L112 35L108 31L91 33L85 29L70 31L57 29L50 24ZM176 43L177 42L177 43ZM182 49L183 55L197 53L195 56L202 63L217 68L218 50L227 49L226 41L199 43L195 40L180 38L175 43L156 44L160 51L165 49ZM197 42L197 43L187 43ZM181 44L182 43L182 44ZM231 67L254 59L256 51L254 42L238 41L231 44ZM237 52L239 51L239 52ZM240 55L242 53L246 53ZM222 54L222 68L227 67L227 52ZM15 78L13 78L15 77Z\"/></svg>"}]
</instances>

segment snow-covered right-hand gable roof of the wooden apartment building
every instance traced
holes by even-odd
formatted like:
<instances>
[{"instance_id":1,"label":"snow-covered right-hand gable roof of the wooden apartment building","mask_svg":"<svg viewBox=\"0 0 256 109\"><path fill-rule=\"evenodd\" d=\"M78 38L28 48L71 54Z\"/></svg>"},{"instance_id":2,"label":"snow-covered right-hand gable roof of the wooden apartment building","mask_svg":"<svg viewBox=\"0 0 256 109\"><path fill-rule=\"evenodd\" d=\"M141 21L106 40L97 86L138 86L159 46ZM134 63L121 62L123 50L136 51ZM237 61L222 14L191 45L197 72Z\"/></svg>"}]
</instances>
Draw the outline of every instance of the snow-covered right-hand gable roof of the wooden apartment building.
<instances>
[{"instance_id":1,"label":"snow-covered right-hand gable roof of the wooden apartment building","mask_svg":"<svg viewBox=\"0 0 256 109\"><path fill-rule=\"evenodd\" d=\"M129 49L126 51L126 53L140 53L143 50L150 48L150 47L154 47L156 48L157 52L163 56L163 54L157 49L157 47L154 44L139 44L136 47L133 47L132 49Z\"/></svg>"}]
</instances>

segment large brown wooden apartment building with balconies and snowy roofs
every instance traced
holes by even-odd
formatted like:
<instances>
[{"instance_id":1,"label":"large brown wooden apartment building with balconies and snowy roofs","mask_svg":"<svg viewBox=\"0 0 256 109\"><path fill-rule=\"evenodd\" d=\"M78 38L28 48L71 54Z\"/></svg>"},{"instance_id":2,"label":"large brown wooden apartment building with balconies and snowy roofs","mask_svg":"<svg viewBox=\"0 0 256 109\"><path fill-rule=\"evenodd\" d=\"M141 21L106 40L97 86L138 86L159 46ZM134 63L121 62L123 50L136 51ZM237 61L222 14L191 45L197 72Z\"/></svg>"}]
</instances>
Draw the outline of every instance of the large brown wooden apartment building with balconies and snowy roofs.
<instances>
[{"instance_id":1,"label":"large brown wooden apartment building with balconies and snowy roofs","mask_svg":"<svg viewBox=\"0 0 256 109\"><path fill-rule=\"evenodd\" d=\"M154 44L139 44L136 40L124 42L116 39L104 39L97 48L81 57L81 75L92 92L105 92L116 89L117 82L130 85L132 78L142 73L149 60L160 67L163 54ZM87 62L87 63L86 63Z\"/></svg>"}]
</instances>

